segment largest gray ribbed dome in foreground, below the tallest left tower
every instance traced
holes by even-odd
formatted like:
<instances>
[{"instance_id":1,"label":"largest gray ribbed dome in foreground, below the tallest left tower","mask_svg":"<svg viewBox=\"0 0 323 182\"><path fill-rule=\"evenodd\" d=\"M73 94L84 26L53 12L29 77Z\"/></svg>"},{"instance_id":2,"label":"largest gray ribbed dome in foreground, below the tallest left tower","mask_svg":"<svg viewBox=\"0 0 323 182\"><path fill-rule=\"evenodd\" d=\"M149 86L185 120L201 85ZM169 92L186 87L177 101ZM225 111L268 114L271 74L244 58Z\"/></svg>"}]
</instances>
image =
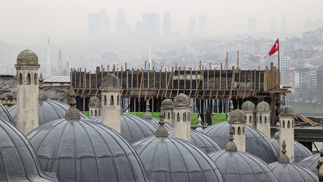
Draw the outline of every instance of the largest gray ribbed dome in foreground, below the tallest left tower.
<instances>
[{"instance_id":1,"label":"largest gray ribbed dome in foreground, below the tallest left tower","mask_svg":"<svg viewBox=\"0 0 323 182\"><path fill-rule=\"evenodd\" d=\"M27 134L41 165L59 182L149 181L137 153L113 129L89 119L58 119Z\"/></svg>"}]
</instances>

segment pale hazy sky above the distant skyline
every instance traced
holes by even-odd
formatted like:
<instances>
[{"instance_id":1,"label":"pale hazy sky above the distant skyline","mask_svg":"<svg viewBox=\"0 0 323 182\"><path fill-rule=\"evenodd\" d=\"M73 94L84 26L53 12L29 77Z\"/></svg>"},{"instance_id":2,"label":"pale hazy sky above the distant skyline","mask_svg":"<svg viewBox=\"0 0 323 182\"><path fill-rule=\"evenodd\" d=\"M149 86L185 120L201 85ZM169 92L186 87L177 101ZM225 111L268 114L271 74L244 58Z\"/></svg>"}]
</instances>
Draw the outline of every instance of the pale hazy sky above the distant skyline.
<instances>
[{"instance_id":1,"label":"pale hazy sky above the distant skyline","mask_svg":"<svg viewBox=\"0 0 323 182\"><path fill-rule=\"evenodd\" d=\"M107 9L110 32L115 34L117 10L123 8L132 31L143 13L171 12L172 32L187 34L188 17L207 17L208 35L247 33L248 17L257 18L257 32L268 31L270 18L275 17L280 30L280 18L287 17L287 28L304 30L304 22L322 17L323 0L2 0L0 32L35 35L74 35L88 38L88 13Z\"/></svg>"}]
</instances>

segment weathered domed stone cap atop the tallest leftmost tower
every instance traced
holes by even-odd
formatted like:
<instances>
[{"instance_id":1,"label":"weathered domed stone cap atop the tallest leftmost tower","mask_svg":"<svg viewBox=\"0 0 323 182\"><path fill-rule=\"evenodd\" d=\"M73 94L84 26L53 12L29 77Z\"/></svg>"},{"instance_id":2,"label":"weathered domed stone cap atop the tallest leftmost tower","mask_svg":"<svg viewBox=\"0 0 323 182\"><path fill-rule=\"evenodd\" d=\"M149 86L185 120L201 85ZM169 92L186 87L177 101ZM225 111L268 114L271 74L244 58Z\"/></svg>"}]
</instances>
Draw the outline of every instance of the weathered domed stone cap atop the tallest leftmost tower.
<instances>
[{"instance_id":1,"label":"weathered domed stone cap atop the tallest leftmost tower","mask_svg":"<svg viewBox=\"0 0 323 182\"><path fill-rule=\"evenodd\" d=\"M38 57L35 52L26 49L17 56L18 66L39 66Z\"/></svg>"}]
</instances>

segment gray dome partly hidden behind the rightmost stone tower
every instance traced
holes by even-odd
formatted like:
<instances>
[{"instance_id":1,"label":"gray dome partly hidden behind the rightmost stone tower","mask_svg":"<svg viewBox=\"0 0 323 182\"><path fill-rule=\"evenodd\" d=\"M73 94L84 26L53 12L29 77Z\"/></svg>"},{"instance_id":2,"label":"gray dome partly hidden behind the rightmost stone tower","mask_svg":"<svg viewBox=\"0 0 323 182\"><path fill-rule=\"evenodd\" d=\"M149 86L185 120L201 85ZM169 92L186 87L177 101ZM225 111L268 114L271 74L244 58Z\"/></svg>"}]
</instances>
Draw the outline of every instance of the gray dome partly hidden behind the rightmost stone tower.
<instances>
[{"instance_id":1,"label":"gray dome partly hidden behind the rightmost stone tower","mask_svg":"<svg viewBox=\"0 0 323 182\"><path fill-rule=\"evenodd\" d=\"M277 154L279 155L279 138L271 138L270 142L274 145ZM298 163L299 161L303 160L304 158L312 155L311 151L308 150L304 145L300 144L297 141L294 141L294 162Z\"/></svg>"}]
</instances>

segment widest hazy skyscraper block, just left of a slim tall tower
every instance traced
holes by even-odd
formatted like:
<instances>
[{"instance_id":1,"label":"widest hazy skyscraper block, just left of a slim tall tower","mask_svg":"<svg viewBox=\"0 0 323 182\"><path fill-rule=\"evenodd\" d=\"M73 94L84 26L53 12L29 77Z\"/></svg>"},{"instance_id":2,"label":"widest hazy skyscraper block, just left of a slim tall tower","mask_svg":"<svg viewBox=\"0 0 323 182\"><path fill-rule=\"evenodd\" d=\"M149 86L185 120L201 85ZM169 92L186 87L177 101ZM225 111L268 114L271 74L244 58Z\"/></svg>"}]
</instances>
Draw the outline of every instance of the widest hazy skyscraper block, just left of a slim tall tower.
<instances>
[{"instance_id":1,"label":"widest hazy skyscraper block, just left of a slim tall tower","mask_svg":"<svg viewBox=\"0 0 323 182\"><path fill-rule=\"evenodd\" d=\"M146 39L159 37L159 14L142 14L142 32Z\"/></svg>"}]
</instances>

